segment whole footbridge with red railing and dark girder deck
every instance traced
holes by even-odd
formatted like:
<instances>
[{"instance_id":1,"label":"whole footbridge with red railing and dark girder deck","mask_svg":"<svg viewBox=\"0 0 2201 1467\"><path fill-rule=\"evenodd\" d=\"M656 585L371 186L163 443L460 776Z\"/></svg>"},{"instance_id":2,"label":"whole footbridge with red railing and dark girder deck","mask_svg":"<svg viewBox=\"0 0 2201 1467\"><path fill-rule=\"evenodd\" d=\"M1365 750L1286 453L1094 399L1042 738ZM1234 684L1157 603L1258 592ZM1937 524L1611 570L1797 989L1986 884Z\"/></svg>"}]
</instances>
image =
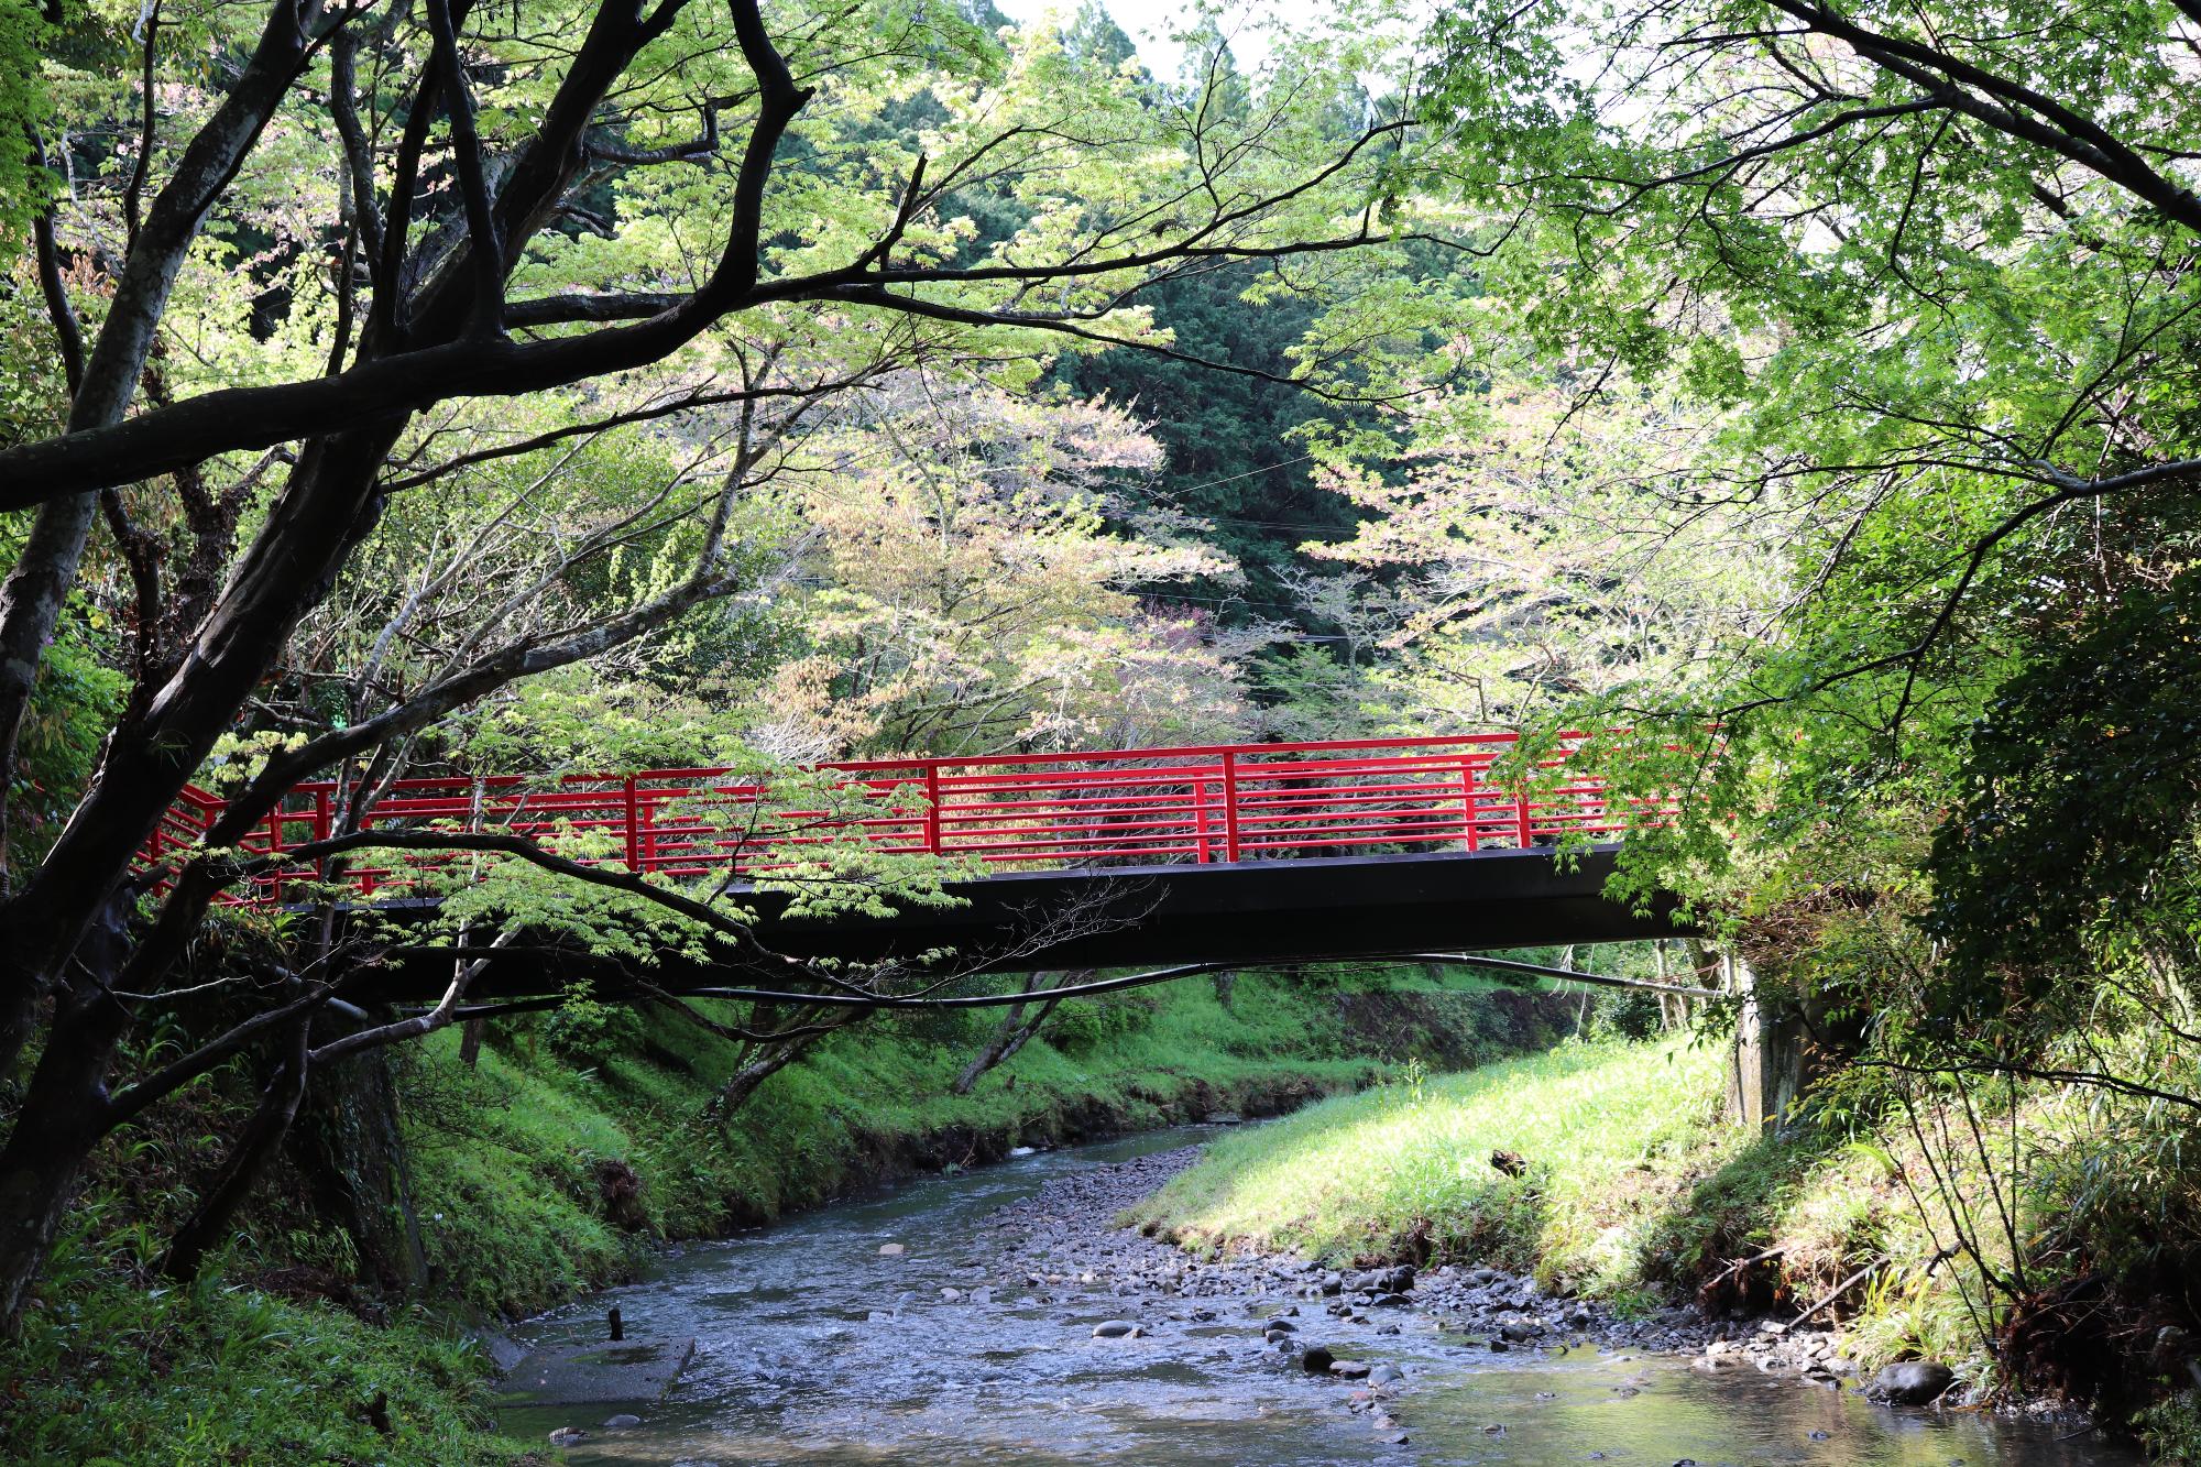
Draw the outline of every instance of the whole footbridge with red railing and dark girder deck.
<instances>
[{"instance_id":1,"label":"whole footbridge with red railing and dark girder deck","mask_svg":"<svg viewBox=\"0 0 2201 1467\"><path fill-rule=\"evenodd\" d=\"M891 923L779 921L762 936L803 956L885 956L999 943L1012 912L1114 905L1083 932L1001 967L1279 960L1446 947L1594 943L1671 932L1602 896L1629 828L1673 808L1620 800L1576 773L1585 736L1512 760L1514 734L1006 753L821 764L801 773L651 769L632 775L396 780L341 822L348 791L299 784L242 841L280 857L350 830L524 835L594 866L674 879L795 874L836 850L964 861L966 905ZM222 813L202 791L169 811L150 861L198 846ZM1589 850L1552 859L1567 841ZM233 901L284 903L339 881L376 905L434 896L475 859L438 852L337 872L269 866ZM326 892L326 888L319 888ZM1085 923L1092 927L1092 923ZM1015 943L1012 943L1015 945Z\"/></svg>"}]
</instances>

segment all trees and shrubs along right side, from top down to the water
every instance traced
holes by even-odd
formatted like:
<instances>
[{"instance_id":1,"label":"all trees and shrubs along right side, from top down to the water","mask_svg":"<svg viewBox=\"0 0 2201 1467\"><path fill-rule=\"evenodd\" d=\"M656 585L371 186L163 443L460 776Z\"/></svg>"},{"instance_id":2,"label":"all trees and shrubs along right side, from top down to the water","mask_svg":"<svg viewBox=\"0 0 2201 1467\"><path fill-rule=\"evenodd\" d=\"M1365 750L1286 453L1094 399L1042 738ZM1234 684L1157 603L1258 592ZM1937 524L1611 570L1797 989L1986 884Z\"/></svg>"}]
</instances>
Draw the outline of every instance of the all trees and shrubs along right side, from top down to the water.
<instances>
[{"instance_id":1,"label":"all trees and shrubs along right side, from top down to the water","mask_svg":"<svg viewBox=\"0 0 2201 1467\"><path fill-rule=\"evenodd\" d=\"M1827 1104L1935 1167L1983 1348L2159 1372L2056 1341L2172 1297L2194 1236L2201 13L1470 2L1439 35L1433 117L1508 143L1459 176L1512 229L1492 291L1572 412L1649 385L1712 427L1629 496L1684 568L1704 524L1778 568L1701 676L1567 709L1688 747L1638 764L1701 797L1631 859L1739 921L1761 998L1869 1026ZM2021 1145L2058 1108L2115 1185Z\"/></svg>"}]
</instances>

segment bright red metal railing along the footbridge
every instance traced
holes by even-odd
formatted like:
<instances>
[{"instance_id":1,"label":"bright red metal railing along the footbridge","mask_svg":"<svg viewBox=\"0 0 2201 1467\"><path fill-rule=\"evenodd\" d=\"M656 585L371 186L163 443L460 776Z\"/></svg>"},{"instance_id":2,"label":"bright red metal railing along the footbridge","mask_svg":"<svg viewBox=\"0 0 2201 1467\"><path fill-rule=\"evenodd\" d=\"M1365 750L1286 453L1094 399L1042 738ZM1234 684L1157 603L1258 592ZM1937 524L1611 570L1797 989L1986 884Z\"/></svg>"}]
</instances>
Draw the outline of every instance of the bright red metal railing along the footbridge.
<instances>
[{"instance_id":1,"label":"bright red metal railing along the footbridge","mask_svg":"<svg viewBox=\"0 0 2201 1467\"><path fill-rule=\"evenodd\" d=\"M1310 745L1202 745L1107 753L821 764L777 784L726 769L632 775L398 780L354 828L491 830L583 861L698 877L788 868L823 846L929 852L982 866L1222 863L1395 850L1519 850L1569 835L1620 837L1671 804L1611 797L1569 775L1583 738L1538 760L1543 775L1492 780L1516 734L1354 738ZM1519 771L1514 771L1519 775ZM788 793L790 784L803 784ZM328 839L337 786L299 784L240 844L282 855ZM147 844L147 861L191 848L222 802L189 789ZM359 863L361 896L451 879L467 855ZM240 901L282 901L315 879L304 863L255 877Z\"/></svg>"}]
</instances>

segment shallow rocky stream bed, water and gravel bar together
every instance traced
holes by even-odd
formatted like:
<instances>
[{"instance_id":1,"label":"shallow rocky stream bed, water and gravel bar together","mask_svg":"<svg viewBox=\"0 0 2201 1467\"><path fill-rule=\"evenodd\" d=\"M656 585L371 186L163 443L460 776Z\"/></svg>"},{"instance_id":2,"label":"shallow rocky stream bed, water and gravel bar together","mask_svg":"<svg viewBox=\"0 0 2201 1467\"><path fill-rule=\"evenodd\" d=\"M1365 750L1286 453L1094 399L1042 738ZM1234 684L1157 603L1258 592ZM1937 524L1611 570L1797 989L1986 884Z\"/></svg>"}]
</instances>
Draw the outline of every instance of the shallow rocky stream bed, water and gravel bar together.
<instances>
[{"instance_id":1,"label":"shallow rocky stream bed, water and gravel bar together","mask_svg":"<svg viewBox=\"0 0 2201 1467\"><path fill-rule=\"evenodd\" d=\"M574 1463L2126 1463L1891 1410L1831 1335L1618 1319L1494 1269L1195 1258L1116 1227L1186 1137L1026 1156L667 1256L530 1344L693 1339L663 1399L515 1405ZM605 1425L618 1421L616 1427Z\"/></svg>"}]
</instances>

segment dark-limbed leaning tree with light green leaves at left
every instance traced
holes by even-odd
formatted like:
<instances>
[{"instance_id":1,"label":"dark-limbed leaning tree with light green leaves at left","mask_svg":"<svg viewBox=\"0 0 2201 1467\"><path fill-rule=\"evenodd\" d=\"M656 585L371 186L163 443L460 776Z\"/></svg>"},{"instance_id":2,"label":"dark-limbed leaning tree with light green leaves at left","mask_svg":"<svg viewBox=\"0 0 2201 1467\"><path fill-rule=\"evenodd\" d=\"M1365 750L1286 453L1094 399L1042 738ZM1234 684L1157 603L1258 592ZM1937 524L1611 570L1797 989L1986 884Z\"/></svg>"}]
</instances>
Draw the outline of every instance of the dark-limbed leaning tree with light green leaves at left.
<instances>
[{"instance_id":1,"label":"dark-limbed leaning tree with light green leaves at left","mask_svg":"<svg viewBox=\"0 0 2201 1467\"><path fill-rule=\"evenodd\" d=\"M1145 326L1145 289L1362 247L1393 227L1376 214L1384 161L1413 145L1395 112L1365 108L1340 132L1334 110L1316 123L1301 106L1358 95L1384 64L1349 15L1285 46L1228 123L1078 68L1048 35L1001 51L924 0L770 13L735 0L729 18L685 0L280 0L134 35L103 11L64 7L57 24L70 40L48 48L59 106L42 128L68 187L20 267L18 282L40 282L44 330L11 346L9 374L68 390L46 399L44 425L18 408L26 425L0 447L0 509L15 515L0 588L11 811L53 650L79 626L119 634L130 687L81 795L46 791L66 819L13 824L4 841L0 1060L33 1068L0 1150L0 1319L22 1306L88 1148L134 1108L264 1044L288 1055L280 1110L315 1055L451 1018L447 1002L332 1033L339 976L273 971L225 993L244 1011L218 1044L114 1090L136 1013L194 1009L169 993L178 965L251 870L236 839L288 784L348 767L365 789L480 698L689 623L757 590L764 568L744 542L746 469L724 456L709 478L618 480L610 502L524 535L522 489L506 498L517 518L462 526L502 559L469 586L482 634L423 630L427 597L361 599L383 526L414 529L398 496L500 458L535 454L544 471L559 445L645 423L671 436L651 456L678 465L689 410L770 432L920 366L1017 385L1063 344L1171 352ZM883 99L920 86L938 121L850 145ZM968 192L1026 220L977 258L951 205ZM1307 381L1354 392L1336 372ZM770 452L748 469L768 471ZM387 648L339 645L359 634L343 617L297 641L339 586L343 606L396 628ZM365 665L392 676L361 681ZM306 707L321 729L284 731ZM136 870L154 822L236 736L249 742L225 753L244 775L229 815L165 870ZM306 857L403 844L590 881L451 830L352 830ZM709 892L623 894L660 919L740 925ZM464 974L464 947L456 958Z\"/></svg>"}]
</instances>

